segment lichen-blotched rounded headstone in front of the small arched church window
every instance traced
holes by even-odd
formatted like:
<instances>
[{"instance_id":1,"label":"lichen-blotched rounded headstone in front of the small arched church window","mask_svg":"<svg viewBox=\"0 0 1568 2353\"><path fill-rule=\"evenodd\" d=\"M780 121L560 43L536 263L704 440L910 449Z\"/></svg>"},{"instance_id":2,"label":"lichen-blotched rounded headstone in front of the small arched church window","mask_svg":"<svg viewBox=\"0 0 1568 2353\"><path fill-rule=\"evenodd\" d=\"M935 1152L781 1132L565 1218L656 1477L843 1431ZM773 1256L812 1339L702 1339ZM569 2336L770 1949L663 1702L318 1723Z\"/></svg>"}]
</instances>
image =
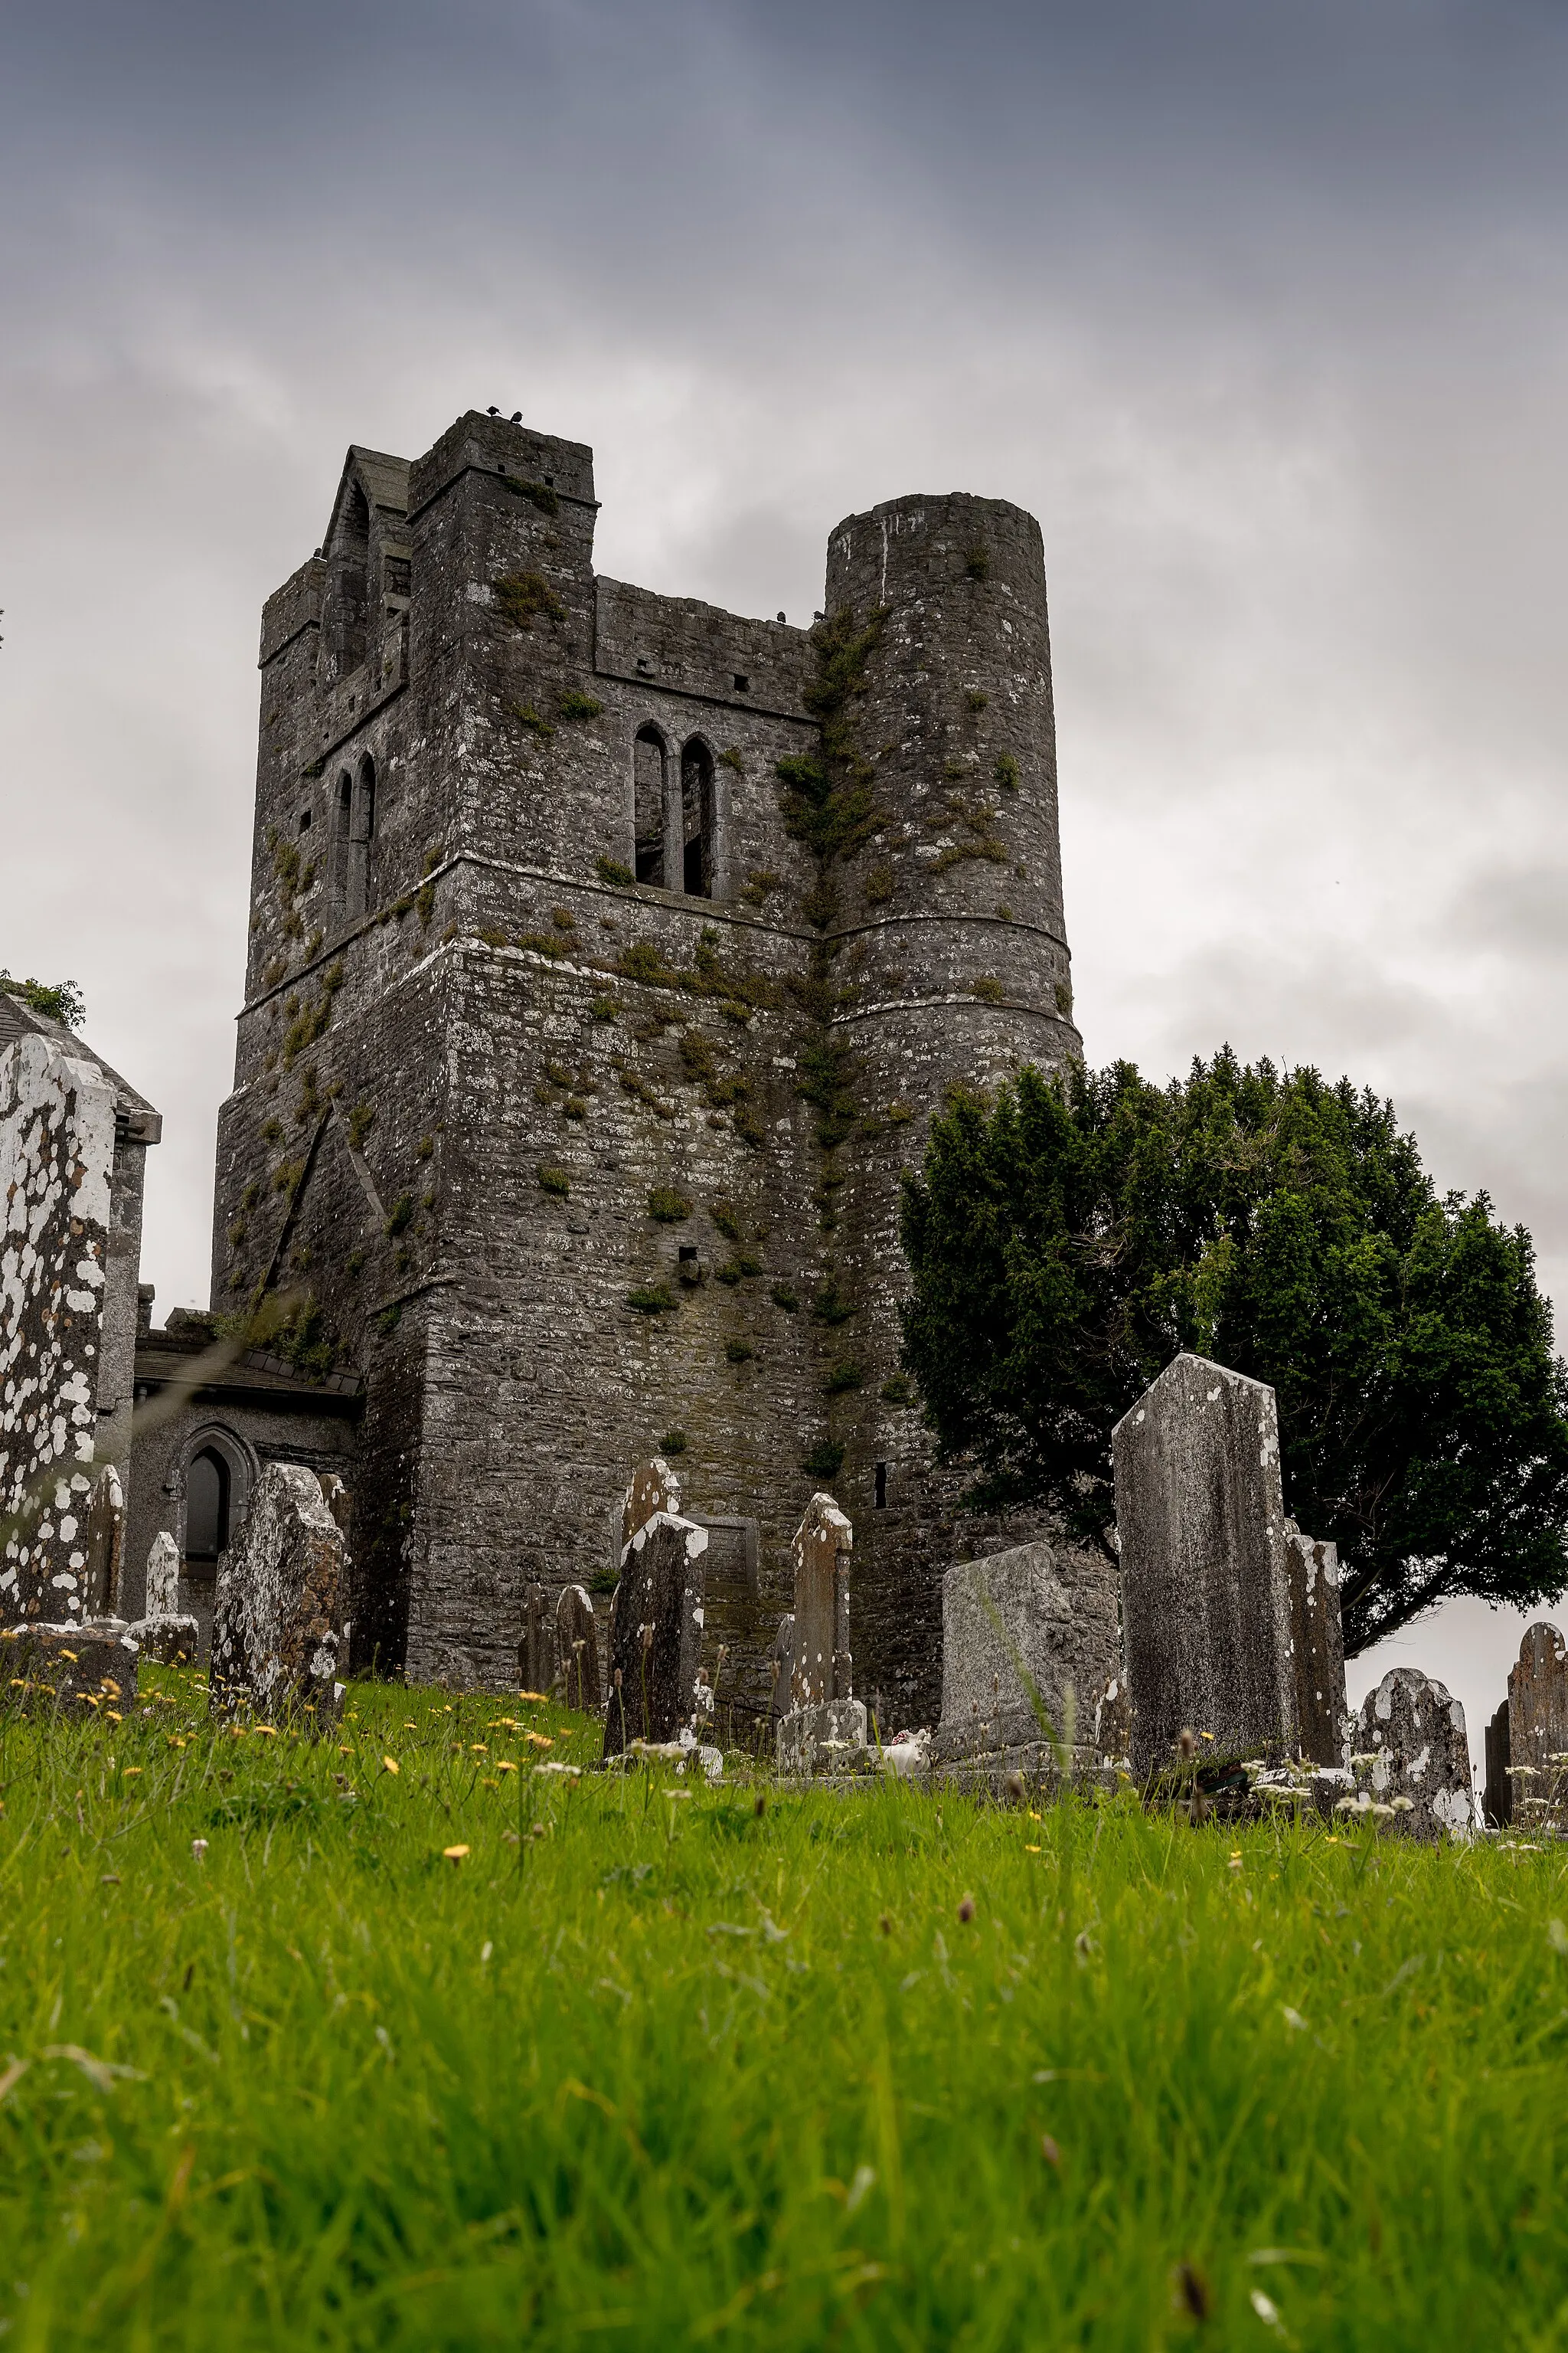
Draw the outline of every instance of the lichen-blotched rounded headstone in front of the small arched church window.
<instances>
[{"instance_id":1,"label":"lichen-blotched rounded headstone in front of the small arched church window","mask_svg":"<svg viewBox=\"0 0 1568 2353\"><path fill-rule=\"evenodd\" d=\"M212 1614L212 1713L336 1715L343 1534L322 1482L268 1464L219 1560Z\"/></svg>"}]
</instances>

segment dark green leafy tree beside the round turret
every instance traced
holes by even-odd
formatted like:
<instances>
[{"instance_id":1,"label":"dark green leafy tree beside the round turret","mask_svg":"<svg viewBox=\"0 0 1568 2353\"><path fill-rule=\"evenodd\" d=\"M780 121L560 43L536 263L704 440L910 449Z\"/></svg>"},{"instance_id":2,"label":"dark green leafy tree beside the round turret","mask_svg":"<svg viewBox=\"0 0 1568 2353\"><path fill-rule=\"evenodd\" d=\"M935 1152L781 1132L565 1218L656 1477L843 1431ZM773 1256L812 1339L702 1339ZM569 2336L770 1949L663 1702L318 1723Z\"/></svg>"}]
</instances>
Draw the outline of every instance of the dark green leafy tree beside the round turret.
<instances>
[{"instance_id":1,"label":"dark green leafy tree beside the round turret","mask_svg":"<svg viewBox=\"0 0 1568 2353\"><path fill-rule=\"evenodd\" d=\"M1450 1593L1568 1584L1568 1367L1523 1226L1439 1198L1392 1104L1225 1047L954 1094L905 1176L905 1365L976 1506L1110 1546L1110 1433L1192 1348L1279 1398L1286 1511L1356 1652Z\"/></svg>"}]
</instances>

